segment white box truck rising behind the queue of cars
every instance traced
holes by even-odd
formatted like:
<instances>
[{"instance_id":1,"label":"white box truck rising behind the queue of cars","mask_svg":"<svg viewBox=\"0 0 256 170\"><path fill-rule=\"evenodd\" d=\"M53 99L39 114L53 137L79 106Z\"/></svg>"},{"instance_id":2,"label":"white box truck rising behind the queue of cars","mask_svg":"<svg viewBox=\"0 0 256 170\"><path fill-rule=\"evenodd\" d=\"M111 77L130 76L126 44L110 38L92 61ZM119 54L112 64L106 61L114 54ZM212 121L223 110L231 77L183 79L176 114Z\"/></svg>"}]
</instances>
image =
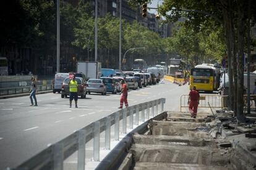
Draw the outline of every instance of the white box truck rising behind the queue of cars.
<instances>
[{"instance_id":1,"label":"white box truck rising behind the queue of cars","mask_svg":"<svg viewBox=\"0 0 256 170\"><path fill-rule=\"evenodd\" d=\"M100 62L77 62L77 73L85 74L87 79L98 79L101 76L101 63Z\"/></svg>"}]
</instances>

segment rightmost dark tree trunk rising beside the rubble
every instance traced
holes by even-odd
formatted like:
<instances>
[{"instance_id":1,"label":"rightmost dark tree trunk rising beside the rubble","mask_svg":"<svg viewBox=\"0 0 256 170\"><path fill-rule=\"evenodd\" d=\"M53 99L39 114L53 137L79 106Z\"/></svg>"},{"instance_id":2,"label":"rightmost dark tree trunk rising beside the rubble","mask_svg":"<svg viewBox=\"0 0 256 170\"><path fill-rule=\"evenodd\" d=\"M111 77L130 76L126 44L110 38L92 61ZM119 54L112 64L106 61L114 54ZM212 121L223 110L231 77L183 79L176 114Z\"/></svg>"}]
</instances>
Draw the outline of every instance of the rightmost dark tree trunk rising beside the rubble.
<instances>
[{"instance_id":1,"label":"rightmost dark tree trunk rising beside the rubble","mask_svg":"<svg viewBox=\"0 0 256 170\"><path fill-rule=\"evenodd\" d=\"M245 2L237 1L237 119L245 121L243 114L244 106L244 33L245 33Z\"/></svg>"}]
</instances>

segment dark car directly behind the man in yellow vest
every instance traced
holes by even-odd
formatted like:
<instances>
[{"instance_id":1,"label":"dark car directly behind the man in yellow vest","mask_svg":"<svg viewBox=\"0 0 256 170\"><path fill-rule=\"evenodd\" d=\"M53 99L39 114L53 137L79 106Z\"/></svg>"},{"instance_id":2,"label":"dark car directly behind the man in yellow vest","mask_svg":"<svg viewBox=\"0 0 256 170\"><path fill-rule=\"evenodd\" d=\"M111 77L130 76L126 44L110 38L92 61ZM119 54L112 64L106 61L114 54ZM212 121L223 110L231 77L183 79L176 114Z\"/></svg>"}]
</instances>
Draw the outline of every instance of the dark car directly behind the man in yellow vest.
<instances>
[{"instance_id":1,"label":"dark car directly behind the man in yellow vest","mask_svg":"<svg viewBox=\"0 0 256 170\"><path fill-rule=\"evenodd\" d=\"M61 98L67 97L69 95L69 82L71 79L66 78L64 79L62 83L62 88L61 88ZM83 80L83 78L75 77L75 81L77 81L77 92L78 95L81 96L82 99L86 97L87 89L86 89L86 83Z\"/></svg>"}]
</instances>

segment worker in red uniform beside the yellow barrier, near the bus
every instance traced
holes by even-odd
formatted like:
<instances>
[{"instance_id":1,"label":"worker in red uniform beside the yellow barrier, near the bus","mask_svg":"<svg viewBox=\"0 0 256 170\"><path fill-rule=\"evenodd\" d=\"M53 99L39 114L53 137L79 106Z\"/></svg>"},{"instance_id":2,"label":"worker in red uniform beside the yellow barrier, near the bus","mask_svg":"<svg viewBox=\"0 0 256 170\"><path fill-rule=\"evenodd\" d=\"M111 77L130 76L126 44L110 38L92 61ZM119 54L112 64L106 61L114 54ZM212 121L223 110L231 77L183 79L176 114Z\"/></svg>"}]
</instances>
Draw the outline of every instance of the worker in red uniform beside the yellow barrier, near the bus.
<instances>
[{"instance_id":1,"label":"worker in red uniform beside the yellow barrier, near the bus","mask_svg":"<svg viewBox=\"0 0 256 170\"><path fill-rule=\"evenodd\" d=\"M197 107L199 105L200 95L198 91L196 91L196 87L189 92L189 112L191 113L191 118L197 118Z\"/></svg>"}]
</instances>

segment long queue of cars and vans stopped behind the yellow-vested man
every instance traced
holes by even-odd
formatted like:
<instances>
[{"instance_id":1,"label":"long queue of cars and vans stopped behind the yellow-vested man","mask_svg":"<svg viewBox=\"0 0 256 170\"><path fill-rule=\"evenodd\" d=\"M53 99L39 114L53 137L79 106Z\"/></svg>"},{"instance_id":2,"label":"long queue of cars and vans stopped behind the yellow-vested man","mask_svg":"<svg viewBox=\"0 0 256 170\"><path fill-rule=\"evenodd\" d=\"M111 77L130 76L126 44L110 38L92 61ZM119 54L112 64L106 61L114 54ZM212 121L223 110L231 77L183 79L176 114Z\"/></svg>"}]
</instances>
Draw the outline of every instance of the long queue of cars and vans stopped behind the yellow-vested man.
<instances>
[{"instance_id":1,"label":"long queue of cars and vans stopped behind the yellow-vested man","mask_svg":"<svg viewBox=\"0 0 256 170\"><path fill-rule=\"evenodd\" d=\"M151 68L150 68L151 69ZM157 69L157 68L156 68ZM106 95L117 94L122 91L121 82L124 81L128 89L137 90L151 86L163 78L161 72L147 72L147 70L135 71L111 71L113 69L102 68L101 77L86 78L83 73L56 73L53 83L53 93L61 93L61 98L67 98L70 94L69 83L74 77L77 82L77 95L85 99L92 93ZM152 69L151 69L152 70Z\"/></svg>"}]
</instances>

